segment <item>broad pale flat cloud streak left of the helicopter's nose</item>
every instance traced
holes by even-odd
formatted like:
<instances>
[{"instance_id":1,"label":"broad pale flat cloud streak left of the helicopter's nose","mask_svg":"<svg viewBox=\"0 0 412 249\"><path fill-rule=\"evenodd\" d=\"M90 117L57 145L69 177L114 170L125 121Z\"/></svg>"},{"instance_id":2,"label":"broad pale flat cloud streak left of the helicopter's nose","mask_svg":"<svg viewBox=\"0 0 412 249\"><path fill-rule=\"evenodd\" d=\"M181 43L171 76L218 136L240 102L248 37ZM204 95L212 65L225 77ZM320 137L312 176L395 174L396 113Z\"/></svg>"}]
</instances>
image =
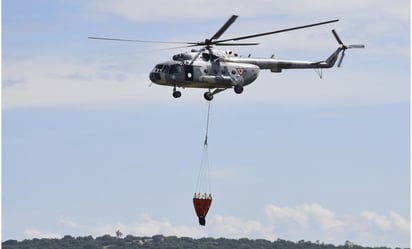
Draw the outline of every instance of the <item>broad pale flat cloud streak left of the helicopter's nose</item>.
<instances>
[{"instance_id":1,"label":"broad pale flat cloud streak left of the helicopter's nose","mask_svg":"<svg viewBox=\"0 0 412 249\"><path fill-rule=\"evenodd\" d=\"M148 72L107 70L105 66L67 55L3 61L3 82L11 82L3 85L3 108L162 102L162 91L148 88Z\"/></svg>"}]
</instances>

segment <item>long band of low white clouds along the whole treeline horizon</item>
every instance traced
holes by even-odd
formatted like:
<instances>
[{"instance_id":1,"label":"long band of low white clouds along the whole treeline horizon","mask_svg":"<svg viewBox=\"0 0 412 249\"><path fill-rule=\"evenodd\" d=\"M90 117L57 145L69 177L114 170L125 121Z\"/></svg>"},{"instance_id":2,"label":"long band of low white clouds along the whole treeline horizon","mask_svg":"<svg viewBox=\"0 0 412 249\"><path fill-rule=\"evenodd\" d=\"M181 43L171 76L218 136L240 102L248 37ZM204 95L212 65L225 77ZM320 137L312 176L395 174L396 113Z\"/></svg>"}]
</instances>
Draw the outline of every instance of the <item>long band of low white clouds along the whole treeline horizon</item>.
<instances>
[{"instance_id":1,"label":"long band of low white clouds along the whole treeline horizon","mask_svg":"<svg viewBox=\"0 0 412 249\"><path fill-rule=\"evenodd\" d=\"M206 227L191 224L174 223L168 218L142 215L127 224L117 222L103 225L84 225L74 222L68 217L60 218L62 228L69 228L74 234L81 236L114 236L117 230L124 235L153 236L163 234L178 237L226 237L267 239L278 238L298 241L323 241L336 245L350 240L363 246L400 246L409 245L410 222L394 211L379 214L374 211L363 211L359 215L336 215L333 211L317 203L302 204L296 207L278 207L268 204L264 207L262 219L243 219L235 216L217 214L207 217ZM26 237L61 237L54 233L38 230L27 230Z\"/></svg>"}]
</instances>

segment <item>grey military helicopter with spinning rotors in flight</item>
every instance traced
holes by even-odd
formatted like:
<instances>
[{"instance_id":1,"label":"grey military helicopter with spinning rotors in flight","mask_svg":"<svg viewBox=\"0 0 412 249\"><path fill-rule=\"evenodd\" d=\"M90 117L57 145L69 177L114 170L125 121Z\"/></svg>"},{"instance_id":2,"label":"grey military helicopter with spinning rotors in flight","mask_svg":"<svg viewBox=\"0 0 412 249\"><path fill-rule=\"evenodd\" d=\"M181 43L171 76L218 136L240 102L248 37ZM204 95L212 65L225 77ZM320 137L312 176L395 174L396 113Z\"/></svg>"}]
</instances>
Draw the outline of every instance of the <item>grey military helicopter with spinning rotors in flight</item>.
<instances>
[{"instance_id":1,"label":"grey military helicopter with spinning rotors in flight","mask_svg":"<svg viewBox=\"0 0 412 249\"><path fill-rule=\"evenodd\" d=\"M261 36L289 32L292 30L305 29L338 22L339 19L318 22L303 26L287 29L275 30L265 33L258 33L240 36L229 39L219 39L224 32L236 21L237 15L232 15L226 23L209 39L200 42L168 42L168 41L148 41L148 40L129 40L107 37L88 37L89 39L126 41L126 42L145 42L145 43L167 43L184 44L184 47L200 47L192 49L190 52L175 54L171 61L157 64L149 74L151 82L173 87L172 96L180 98L182 93L177 90L180 88L204 88L204 98L211 101L217 93L227 89L234 89L234 92L241 94L244 87L254 82L260 70L270 70L272 73L281 73L284 69L324 69L332 68L338 62L340 67L345 56L345 51L352 48L365 48L363 44L345 45L337 32L333 29L332 34L339 44L339 47L326 60L321 61L296 61L275 59L244 58L237 53L228 50L220 50L219 46L254 46L259 43L238 42ZM340 57L339 57L340 56ZM338 60L339 59L339 60Z\"/></svg>"}]
</instances>

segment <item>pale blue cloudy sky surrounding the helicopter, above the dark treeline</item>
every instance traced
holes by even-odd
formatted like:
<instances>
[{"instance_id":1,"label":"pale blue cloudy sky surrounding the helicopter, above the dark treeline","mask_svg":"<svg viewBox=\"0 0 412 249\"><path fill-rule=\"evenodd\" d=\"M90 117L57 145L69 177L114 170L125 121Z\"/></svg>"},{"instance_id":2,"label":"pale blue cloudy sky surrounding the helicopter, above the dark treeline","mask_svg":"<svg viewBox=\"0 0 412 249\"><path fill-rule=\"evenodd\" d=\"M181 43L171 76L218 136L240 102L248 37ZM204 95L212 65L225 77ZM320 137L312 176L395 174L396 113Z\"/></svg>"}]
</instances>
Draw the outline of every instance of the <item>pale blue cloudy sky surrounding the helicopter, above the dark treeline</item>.
<instances>
[{"instance_id":1,"label":"pale blue cloudy sky surrounding the helicopter, above the dark treeline","mask_svg":"<svg viewBox=\"0 0 412 249\"><path fill-rule=\"evenodd\" d=\"M262 71L242 95L215 96L200 227L203 91L173 99L148 79L185 50L87 37L199 41L232 14L227 38L340 19L240 54L322 60L332 28L366 49L322 80ZM2 240L120 229L409 246L409 1L6 0L2 24Z\"/></svg>"}]
</instances>

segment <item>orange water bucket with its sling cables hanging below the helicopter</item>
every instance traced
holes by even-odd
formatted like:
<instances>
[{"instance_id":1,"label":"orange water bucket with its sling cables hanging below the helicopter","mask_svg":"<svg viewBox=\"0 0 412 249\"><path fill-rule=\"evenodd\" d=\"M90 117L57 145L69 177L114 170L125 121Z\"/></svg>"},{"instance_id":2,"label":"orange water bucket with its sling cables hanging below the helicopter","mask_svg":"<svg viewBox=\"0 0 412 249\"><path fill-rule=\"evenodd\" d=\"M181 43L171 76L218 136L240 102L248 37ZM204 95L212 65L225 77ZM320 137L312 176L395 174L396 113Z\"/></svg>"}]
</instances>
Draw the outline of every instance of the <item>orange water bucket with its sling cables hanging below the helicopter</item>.
<instances>
[{"instance_id":1,"label":"orange water bucket with its sling cables hanging below the helicopter","mask_svg":"<svg viewBox=\"0 0 412 249\"><path fill-rule=\"evenodd\" d=\"M212 194L210 190L209 179L209 154L207 150L207 135L209 130L209 117L210 117L210 102L207 108L207 120L206 120L206 135L203 144L202 161L200 162L199 175L197 178L196 191L193 196L193 206L196 211L196 215L199 218L199 224L206 225L206 215L212 205Z\"/></svg>"}]
</instances>

